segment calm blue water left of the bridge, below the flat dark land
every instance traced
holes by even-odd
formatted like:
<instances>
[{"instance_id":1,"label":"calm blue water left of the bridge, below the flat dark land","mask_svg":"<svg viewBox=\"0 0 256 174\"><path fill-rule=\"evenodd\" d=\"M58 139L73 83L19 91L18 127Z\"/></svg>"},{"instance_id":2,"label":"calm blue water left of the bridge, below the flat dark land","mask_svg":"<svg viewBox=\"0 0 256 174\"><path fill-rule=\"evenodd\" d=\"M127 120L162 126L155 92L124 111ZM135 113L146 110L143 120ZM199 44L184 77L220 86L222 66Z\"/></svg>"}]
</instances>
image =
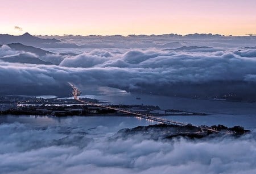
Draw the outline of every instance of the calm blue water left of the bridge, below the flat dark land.
<instances>
[{"instance_id":1,"label":"calm blue water left of the bridge, below the flat dark land","mask_svg":"<svg viewBox=\"0 0 256 174\"><path fill-rule=\"evenodd\" d=\"M80 127L91 129L93 127L109 127L112 131L118 131L126 127L146 126L152 122L135 117L53 117L53 116L27 116L27 115L6 115L0 117L1 123L24 123L33 127ZM110 131L110 132L112 132Z\"/></svg>"}]
</instances>

